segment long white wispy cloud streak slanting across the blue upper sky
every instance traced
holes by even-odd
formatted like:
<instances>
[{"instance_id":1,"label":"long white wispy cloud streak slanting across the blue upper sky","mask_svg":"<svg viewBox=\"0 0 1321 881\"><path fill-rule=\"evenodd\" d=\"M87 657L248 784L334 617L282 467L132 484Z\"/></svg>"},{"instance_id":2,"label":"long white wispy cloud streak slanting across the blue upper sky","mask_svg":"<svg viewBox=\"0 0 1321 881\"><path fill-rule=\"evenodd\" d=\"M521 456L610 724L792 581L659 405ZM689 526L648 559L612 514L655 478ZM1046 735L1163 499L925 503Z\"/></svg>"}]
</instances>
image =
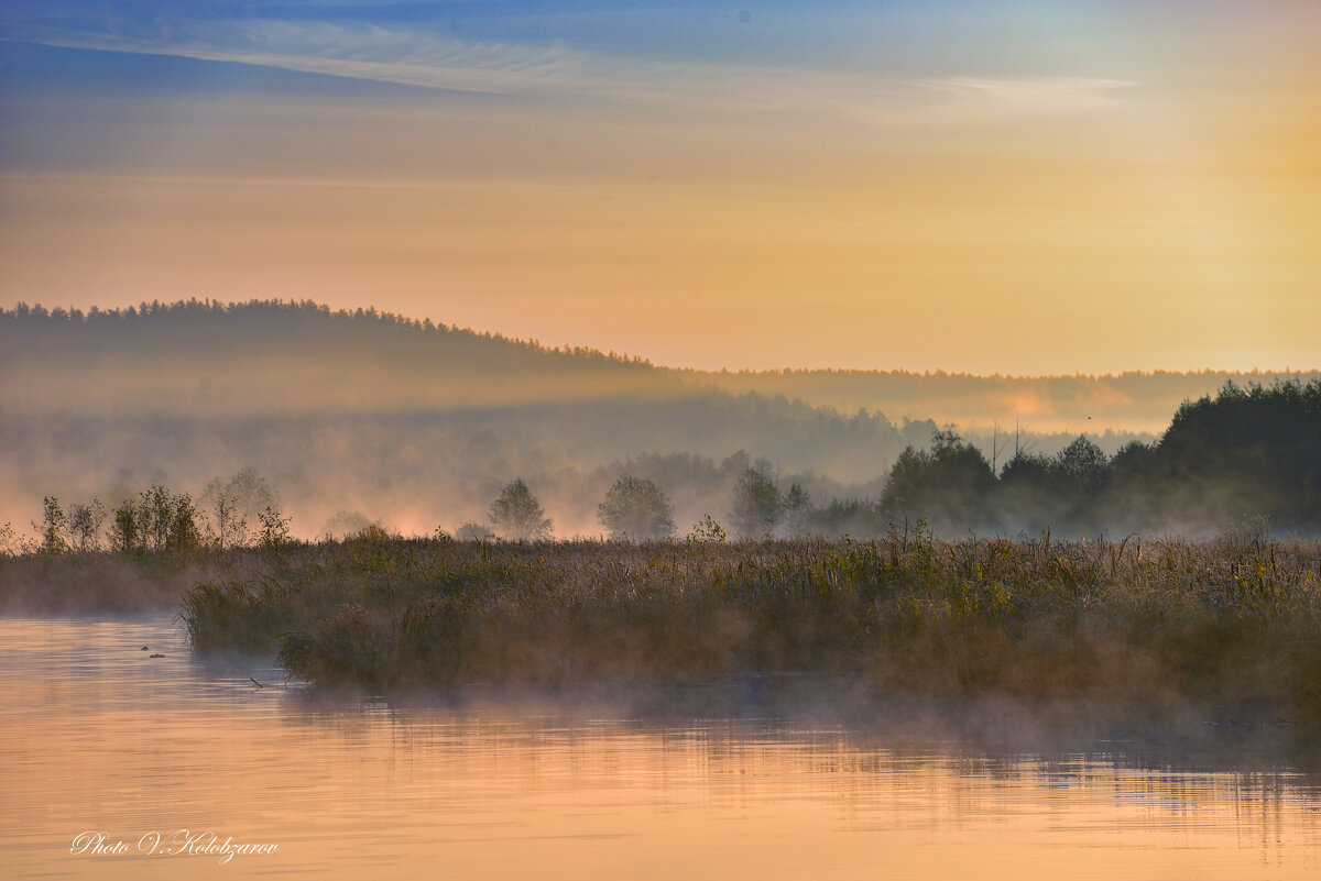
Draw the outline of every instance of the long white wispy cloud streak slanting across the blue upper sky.
<instances>
[{"instance_id":1,"label":"long white wispy cloud streak slanting across the blue upper sky","mask_svg":"<svg viewBox=\"0 0 1321 881\"><path fill-rule=\"evenodd\" d=\"M317 21L192 20L168 28L34 26L9 38L53 46L260 65L458 92L705 111L827 113L881 125L951 125L1096 112L1122 79L951 76L672 62L546 45L462 41L428 29Z\"/></svg>"}]
</instances>

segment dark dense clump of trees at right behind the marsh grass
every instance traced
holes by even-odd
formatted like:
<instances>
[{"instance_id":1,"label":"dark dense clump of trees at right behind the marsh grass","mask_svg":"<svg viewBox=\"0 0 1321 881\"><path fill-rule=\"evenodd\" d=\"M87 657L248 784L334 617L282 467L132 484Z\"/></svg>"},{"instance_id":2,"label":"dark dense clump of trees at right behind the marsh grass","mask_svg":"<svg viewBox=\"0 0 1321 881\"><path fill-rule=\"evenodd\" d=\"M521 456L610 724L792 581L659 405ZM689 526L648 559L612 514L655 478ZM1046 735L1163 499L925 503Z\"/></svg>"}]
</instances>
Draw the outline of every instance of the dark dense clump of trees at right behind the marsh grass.
<instances>
[{"instance_id":1,"label":"dark dense clump of trees at right behind the marsh grass","mask_svg":"<svg viewBox=\"0 0 1321 881\"><path fill-rule=\"evenodd\" d=\"M1264 520L1321 532L1321 381L1240 388L1185 402L1152 444L1114 456L1079 437L1054 456L1017 451L999 475L939 431L896 462L877 521L921 517L938 533L1203 532ZM875 521L873 521L875 525Z\"/></svg>"}]
</instances>

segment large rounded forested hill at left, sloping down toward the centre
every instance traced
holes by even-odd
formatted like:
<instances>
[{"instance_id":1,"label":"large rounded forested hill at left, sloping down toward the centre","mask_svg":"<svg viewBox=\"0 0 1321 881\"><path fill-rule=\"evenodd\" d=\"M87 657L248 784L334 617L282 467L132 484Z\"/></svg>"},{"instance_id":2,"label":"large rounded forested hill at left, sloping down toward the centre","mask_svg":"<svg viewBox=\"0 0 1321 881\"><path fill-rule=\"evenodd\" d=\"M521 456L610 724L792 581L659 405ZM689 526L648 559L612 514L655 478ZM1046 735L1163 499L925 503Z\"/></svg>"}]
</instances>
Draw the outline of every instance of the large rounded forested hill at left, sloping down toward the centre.
<instances>
[{"instance_id":1,"label":"large rounded forested hill at left, sloping down toward the centre","mask_svg":"<svg viewBox=\"0 0 1321 881\"><path fill-rule=\"evenodd\" d=\"M362 413L682 392L641 360L375 310L144 303L0 313L0 401L89 414Z\"/></svg>"}]
</instances>

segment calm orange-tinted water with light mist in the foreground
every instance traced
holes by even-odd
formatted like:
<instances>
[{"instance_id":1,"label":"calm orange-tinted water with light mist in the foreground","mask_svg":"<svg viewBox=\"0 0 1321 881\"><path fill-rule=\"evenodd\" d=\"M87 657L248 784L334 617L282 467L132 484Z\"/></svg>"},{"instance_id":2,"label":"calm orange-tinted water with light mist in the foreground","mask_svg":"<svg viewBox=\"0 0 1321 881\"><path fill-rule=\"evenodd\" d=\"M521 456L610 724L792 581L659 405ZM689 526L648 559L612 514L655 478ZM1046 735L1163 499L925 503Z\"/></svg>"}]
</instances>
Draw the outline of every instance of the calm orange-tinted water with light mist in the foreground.
<instances>
[{"instance_id":1,"label":"calm orange-tinted water with light mist in the foreground","mask_svg":"<svg viewBox=\"0 0 1321 881\"><path fill-rule=\"evenodd\" d=\"M316 699L169 621L0 620L0 645L4 877L1321 877L1317 778L1271 746L1299 732L1042 748L893 724L911 706ZM277 849L166 852L180 830Z\"/></svg>"}]
</instances>

